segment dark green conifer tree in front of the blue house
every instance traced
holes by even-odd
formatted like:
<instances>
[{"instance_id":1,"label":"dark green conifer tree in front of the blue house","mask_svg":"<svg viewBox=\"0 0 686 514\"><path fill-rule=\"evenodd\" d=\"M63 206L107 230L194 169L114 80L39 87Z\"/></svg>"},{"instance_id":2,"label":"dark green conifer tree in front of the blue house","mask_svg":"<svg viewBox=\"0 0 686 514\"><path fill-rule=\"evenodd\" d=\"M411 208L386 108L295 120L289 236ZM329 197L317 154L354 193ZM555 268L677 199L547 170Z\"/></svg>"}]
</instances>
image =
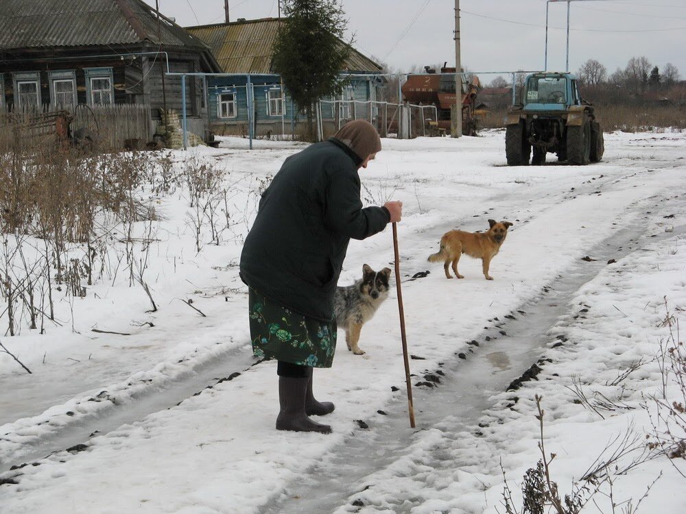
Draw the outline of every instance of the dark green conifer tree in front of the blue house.
<instances>
[{"instance_id":1,"label":"dark green conifer tree in front of the blue house","mask_svg":"<svg viewBox=\"0 0 686 514\"><path fill-rule=\"evenodd\" d=\"M340 0L283 0L285 21L272 49L272 69L307 112L307 138L314 140L314 112L322 97L340 93L340 76L353 40L344 42L348 21Z\"/></svg>"}]
</instances>

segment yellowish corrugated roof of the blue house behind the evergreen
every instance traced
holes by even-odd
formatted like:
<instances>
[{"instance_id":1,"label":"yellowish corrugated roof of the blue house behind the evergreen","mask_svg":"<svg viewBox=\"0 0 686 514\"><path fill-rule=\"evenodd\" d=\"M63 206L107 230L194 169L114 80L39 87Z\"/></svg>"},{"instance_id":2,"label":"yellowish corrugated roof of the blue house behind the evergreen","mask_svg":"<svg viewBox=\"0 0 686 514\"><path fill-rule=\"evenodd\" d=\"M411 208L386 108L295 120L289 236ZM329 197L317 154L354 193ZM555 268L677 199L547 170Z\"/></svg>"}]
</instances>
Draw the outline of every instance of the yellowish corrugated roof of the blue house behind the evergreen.
<instances>
[{"instance_id":1,"label":"yellowish corrugated roof of the blue house behind the evergreen","mask_svg":"<svg viewBox=\"0 0 686 514\"><path fill-rule=\"evenodd\" d=\"M283 21L265 18L186 27L186 30L211 48L224 73L273 73L272 47ZM345 69L357 73L379 73L381 66L353 48Z\"/></svg>"}]
</instances>

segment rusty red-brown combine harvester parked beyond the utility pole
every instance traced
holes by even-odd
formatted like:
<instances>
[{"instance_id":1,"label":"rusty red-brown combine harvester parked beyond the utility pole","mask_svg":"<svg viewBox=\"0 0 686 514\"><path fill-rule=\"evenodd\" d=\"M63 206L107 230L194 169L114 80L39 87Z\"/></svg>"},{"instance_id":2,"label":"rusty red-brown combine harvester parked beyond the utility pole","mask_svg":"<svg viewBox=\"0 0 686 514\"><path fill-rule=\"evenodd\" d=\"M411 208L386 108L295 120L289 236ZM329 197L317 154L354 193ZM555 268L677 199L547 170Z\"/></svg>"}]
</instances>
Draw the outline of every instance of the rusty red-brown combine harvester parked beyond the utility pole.
<instances>
[{"instance_id":1,"label":"rusty red-brown combine harvester parked beyond the utility pole","mask_svg":"<svg viewBox=\"0 0 686 514\"><path fill-rule=\"evenodd\" d=\"M442 66L440 73L425 66L427 73L407 75L407 82L401 91L405 101L423 106L436 106L438 119L429 121L435 132L451 133L451 108L456 104L455 68ZM480 88L479 77L474 75L469 81L462 81L462 134L476 135L475 117L476 95Z\"/></svg>"}]
</instances>

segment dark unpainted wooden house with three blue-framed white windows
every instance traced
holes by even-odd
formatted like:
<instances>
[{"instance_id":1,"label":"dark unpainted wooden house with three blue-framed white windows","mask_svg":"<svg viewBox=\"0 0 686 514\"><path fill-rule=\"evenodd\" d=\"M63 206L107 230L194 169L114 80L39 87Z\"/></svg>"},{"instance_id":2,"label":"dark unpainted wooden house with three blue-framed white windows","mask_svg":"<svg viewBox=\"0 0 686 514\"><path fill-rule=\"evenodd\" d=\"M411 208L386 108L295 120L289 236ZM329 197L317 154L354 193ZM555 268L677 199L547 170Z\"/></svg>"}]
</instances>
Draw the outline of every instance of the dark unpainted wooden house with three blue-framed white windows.
<instances>
[{"instance_id":1,"label":"dark unpainted wooden house with three blue-framed white windows","mask_svg":"<svg viewBox=\"0 0 686 514\"><path fill-rule=\"evenodd\" d=\"M0 110L150 106L179 111L181 78L220 71L198 38L142 0L0 0ZM189 128L207 123L205 81L186 79Z\"/></svg>"}]
</instances>

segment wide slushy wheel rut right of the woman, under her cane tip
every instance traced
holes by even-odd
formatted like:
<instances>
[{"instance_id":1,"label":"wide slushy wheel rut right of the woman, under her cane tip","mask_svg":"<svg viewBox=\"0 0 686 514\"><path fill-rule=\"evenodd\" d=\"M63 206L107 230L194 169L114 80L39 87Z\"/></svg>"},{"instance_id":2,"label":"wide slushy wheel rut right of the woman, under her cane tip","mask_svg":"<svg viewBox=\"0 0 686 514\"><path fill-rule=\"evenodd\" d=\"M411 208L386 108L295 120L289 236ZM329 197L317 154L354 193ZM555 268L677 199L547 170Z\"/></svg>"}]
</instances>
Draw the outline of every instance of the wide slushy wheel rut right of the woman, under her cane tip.
<instances>
[{"instance_id":1,"label":"wide slushy wheel rut right of the woman, under her cane tip","mask_svg":"<svg viewBox=\"0 0 686 514\"><path fill-rule=\"evenodd\" d=\"M473 352L464 356L466 363L461 357L453 358L440 369L442 376L438 387L415 387L416 430L408 430L403 387L396 400L383 407L386 415L366 420L370 430L357 430L347 437L338 452L326 456L307 476L299 476L297 482L283 491L281 498L265 506L263 514L356 512L367 506L362 493L375 487L377 473L400 473L399 476L407 479L407 475L394 471L394 467L409 465L414 471L427 465L451 472L458 469L464 463L454 461L452 455L459 454L456 450L462 444L460 432L479 432L478 424L484 411L493 406L490 396L505 391L532 363L545 366L546 344L555 340L552 329L560 328L560 318L570 315L567 304L578 290L595 278L609 259L619 260L640 249L641 241L647 238L659 241L686 233L686 225L681 225L671 233L648 234L647 222L643 220L617 230L590 248L589 255L597 260L577 261L569 269L560 270L560 278L544 287L541 298L532 299L510 313L507 322L493 320L493 324L475 338L478 345L473 345ZM506 335L502 336L500 331ZM487 340L490 341L484 342ZM414 378L413 384L417 380L421 379ZM432 429L438 431L438 435L427 442L423 436ZM497 469L493 472L498 474ZM375 490L375 496L390 498L388 502L393 502L390 508L394 513L409 513L423 502L418 494L422 487L421 473L411 472L410 476L413 474L418 476L414 491L383 489L388 487L386 477L386 485L381 485L380 491ZM403 487L406 485L405 480ZM388 505L383 509L378 507L369 505L372 511L388 511Z\"/></svg>"}]
</instances>

